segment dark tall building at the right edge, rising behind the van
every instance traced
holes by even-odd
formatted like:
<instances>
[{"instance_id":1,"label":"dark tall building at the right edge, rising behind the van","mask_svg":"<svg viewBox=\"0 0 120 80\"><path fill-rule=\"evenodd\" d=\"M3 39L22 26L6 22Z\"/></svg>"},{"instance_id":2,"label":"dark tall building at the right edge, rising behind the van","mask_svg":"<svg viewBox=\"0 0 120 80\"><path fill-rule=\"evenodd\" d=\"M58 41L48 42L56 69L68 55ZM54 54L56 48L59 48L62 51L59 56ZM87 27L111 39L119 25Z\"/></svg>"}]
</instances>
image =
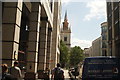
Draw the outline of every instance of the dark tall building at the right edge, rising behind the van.
<instances>
[{"instance_id":1,"label":"dark tall building at the right edge, rising behind the van","mask_svg":"<svg viewBox=\"0 0 120 80\"><path fill-rule=\"evenodd\" d=\"M107 2L109 55L120 57L120 1Z\"/></svg>"}]
</instances>

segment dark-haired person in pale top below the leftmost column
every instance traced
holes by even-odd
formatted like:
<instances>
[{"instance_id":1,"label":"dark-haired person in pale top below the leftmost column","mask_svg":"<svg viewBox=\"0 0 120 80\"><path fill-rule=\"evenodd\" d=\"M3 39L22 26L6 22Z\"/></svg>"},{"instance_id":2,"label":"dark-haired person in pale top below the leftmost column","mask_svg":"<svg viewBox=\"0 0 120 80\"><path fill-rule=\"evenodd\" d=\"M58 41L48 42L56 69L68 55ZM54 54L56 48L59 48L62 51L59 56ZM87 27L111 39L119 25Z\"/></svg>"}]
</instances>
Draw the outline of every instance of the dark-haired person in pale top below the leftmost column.
<instances>
[{"instance_id":1,"label":"dark-haired person in pale top below the leftmost column","mask_svg":"<svg viewBox=\"0 0 120 80\"><path fill-rule=\"evenodd\" d=\"M14 77L15 80L21 80L22 79L22 74L21 70L18 67L18 62L14 62L14 66L10 68L10 74Z\"/></svg>"}]
</instances>

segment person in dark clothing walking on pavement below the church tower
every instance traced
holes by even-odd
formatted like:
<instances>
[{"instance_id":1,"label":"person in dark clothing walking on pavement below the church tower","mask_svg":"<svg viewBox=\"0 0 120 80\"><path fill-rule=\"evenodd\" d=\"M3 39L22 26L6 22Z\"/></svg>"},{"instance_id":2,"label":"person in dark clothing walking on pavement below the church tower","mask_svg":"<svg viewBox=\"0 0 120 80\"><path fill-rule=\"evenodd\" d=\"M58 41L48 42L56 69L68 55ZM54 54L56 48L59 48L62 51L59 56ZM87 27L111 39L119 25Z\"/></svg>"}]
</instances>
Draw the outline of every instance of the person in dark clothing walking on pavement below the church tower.
<instances>
[{"instance_id":1,"label":"person in dark clothing walking on pavement below the church tower","mask_svg":"<svg viewBox=\"0 0 120 80\"><path fill-rule=\"evenodd\" d=\"M64 71L61 69L60 63L57 63L57 67L52 70L51 78L53 80L64 80Z\"/></svg>"}]
</instances>

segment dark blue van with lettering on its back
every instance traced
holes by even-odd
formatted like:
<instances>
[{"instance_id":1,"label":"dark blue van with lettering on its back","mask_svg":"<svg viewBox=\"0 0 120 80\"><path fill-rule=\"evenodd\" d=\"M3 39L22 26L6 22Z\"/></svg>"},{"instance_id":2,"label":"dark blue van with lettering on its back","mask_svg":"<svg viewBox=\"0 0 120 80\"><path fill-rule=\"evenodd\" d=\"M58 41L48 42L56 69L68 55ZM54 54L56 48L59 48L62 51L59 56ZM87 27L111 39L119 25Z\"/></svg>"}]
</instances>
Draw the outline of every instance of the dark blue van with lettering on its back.
<instances>
[{"instance_id":1,"label":"dark blue van with lettering on its back","mask_svg":"<svg viewBox=\"0 0 120 80\"><path fill-rule=\"evenodd\" d=\"M120 80L120 58L111 56L85 58L82 80Z\"/></svg>"}]
</instances>

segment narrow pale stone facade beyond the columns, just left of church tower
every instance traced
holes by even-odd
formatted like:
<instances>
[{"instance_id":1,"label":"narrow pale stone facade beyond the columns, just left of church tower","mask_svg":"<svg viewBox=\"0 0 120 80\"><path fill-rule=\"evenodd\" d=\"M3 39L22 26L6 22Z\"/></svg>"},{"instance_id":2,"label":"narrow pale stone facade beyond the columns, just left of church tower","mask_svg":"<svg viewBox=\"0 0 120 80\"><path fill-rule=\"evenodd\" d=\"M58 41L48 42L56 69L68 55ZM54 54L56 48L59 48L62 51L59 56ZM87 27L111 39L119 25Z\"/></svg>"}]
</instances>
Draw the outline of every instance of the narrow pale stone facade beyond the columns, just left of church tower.
<instances>
[{"instance_id":1,"label":"narrow pale stone facade beyond the columns, just left of church tower","mask_svg":"<svg viewBox=\"0 0 120 80\"><path fill-rule=\"evenodd\" d=\"M60 59L60 26L61 26L61 2L54 3L54 24L52 34L52 50L51 50L51 69L53 69Z\"/></svg>"}]
</instances>

